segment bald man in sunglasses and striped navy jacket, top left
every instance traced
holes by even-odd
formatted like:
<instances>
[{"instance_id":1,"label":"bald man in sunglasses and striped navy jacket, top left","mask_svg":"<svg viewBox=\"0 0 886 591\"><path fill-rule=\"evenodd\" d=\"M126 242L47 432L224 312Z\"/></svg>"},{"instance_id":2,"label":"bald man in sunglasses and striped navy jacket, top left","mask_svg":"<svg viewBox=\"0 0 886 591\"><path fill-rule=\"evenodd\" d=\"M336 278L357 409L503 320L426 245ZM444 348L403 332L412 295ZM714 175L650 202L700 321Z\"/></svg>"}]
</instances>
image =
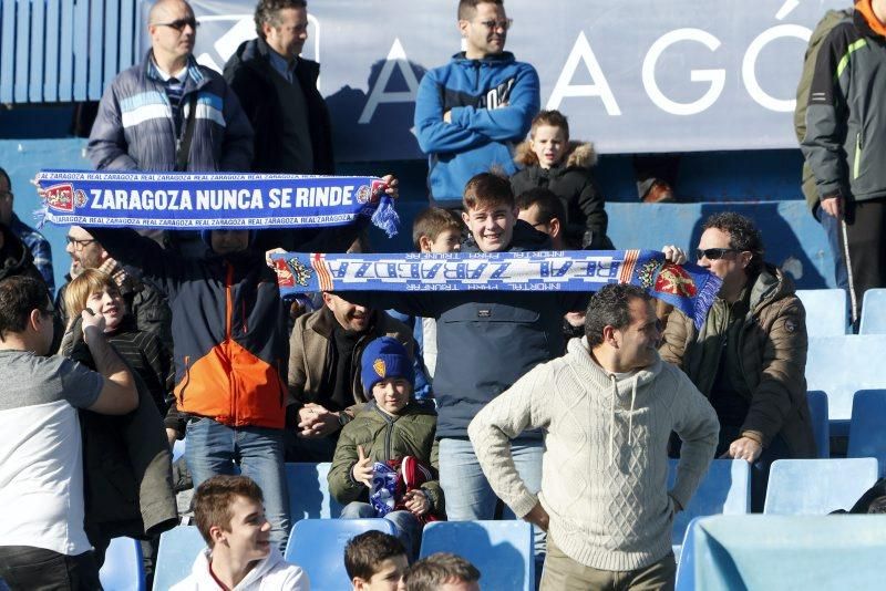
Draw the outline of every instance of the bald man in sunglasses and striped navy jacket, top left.
<instances>
[{"instance_id":1,"label":"bald man in sunglasses and striped navy jacket, top left","mask_svg":"<svg viewBox=\"0 0 886 591\"><path fill-rule=\"evenodd\" d=\"M194 59L198 24L183 0L151 8L151 50L99 105L87 147L95 168L249 170L253 128L224 79Z\"/></svg>"}]
</instances>

